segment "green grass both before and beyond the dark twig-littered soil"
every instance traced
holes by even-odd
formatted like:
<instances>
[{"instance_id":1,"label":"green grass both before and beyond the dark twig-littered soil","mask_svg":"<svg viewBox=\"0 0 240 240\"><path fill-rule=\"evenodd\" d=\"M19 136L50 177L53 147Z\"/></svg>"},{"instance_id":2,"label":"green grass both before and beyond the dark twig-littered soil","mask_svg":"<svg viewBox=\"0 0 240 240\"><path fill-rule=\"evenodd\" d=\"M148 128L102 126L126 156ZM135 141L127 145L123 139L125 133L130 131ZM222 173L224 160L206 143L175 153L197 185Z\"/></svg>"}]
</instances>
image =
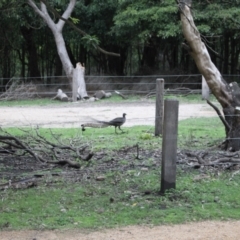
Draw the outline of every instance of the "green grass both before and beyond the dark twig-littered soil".
<instances>
[{"instance_id":1,"label":"green grass both before and beyond the dark twig-littered soil","mask_svg":"<svg viewBox=\"0 0 240 240\"><path fill-rule=\"evenodd\" d=\"M111 153L136 144L146 151L161 149L161 137L152 135L153 128L136 126L125 130L125 134L119 135L114 134L113 128L87 129L84 133L79 129L52 131L61 133L63 138L81 138L93 152L106 151L108 155L102 160L105 162L116 161L112 160ZM21 134L14 128L9 132ZM40 132L51 139L48 129ZM179 124L179 149L208 150L223 139L224 128L216 118L188 119ZM133 167L127 170L124 166L129 165L129 160L121 155L118 161L122 168L104 172L94 172L94 166L102 164L100 160L84 165L89 173L81 181L49 174L34 188L0 191L0 228L96 229L240 219L240 175L233 171L178 165L176 189L161 196L161 169L154 165L151 157L145 157L144 167L138 167L139 160L133 156ZM103 176L102 180L97 179L99 175ZM199 178L202 175L204 178Z\"/></svg>"}]
</instances>

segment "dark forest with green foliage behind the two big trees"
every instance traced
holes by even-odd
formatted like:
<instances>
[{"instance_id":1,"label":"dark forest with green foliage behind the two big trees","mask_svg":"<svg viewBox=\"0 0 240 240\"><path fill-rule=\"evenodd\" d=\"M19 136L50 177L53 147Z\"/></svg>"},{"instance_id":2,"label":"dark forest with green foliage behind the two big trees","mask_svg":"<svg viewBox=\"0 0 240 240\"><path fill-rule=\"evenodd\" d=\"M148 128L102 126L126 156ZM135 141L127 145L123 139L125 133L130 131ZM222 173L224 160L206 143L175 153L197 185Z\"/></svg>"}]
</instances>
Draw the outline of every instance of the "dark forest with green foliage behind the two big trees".
<instances>
[{"instance_id":1,"label":"dark forest with green foliage behind the two big trees","mask_svg":"<svg viewBox=\"0 0 240 240\"><path fill-rule=\"evenodd\" d=\"M49 2L60 13L68 4L60 0ZM237 74L240 2L193 1L193 4L195 22L214 63L223 74ZM3 0L0 12L2 87L13 76L64 74L52 33L26 0ZM197 73L195 64L181 47L184 39L174 0L77 1L71 20L89 34L82 38L68 26L63 33L72 63L84 62L87 74ZM103 55L91 42L120 53L121 57Z\"/></svg>"}]
</instances>

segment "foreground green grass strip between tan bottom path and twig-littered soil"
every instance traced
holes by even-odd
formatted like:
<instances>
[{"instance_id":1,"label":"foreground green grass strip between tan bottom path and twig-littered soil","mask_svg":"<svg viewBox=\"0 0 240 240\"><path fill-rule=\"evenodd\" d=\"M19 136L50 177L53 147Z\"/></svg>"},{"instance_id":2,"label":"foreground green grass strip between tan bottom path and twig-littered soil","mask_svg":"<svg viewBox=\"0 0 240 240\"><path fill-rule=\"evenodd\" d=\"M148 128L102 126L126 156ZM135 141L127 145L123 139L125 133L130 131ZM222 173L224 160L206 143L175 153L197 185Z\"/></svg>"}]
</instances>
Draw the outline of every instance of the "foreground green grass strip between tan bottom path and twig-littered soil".
<instances>
[{"instance_id":1,"label":"foreground green grass strip between tan bottom path and twig-littered soil","mask_svg":"<svg viewBox=\"0 0 240 240\"><path fill-rule=\"evenodd\" d=\"M109 175L104 182L1 192L0 226L12 229L109 228L133 224L176 224L240 219L240 176L211 176L178 170L177 188L160 196L158 171ZM133 188L134 186L134 188ZM151 194L144 194L151 189Z\"/></svg>"}]
</instances>

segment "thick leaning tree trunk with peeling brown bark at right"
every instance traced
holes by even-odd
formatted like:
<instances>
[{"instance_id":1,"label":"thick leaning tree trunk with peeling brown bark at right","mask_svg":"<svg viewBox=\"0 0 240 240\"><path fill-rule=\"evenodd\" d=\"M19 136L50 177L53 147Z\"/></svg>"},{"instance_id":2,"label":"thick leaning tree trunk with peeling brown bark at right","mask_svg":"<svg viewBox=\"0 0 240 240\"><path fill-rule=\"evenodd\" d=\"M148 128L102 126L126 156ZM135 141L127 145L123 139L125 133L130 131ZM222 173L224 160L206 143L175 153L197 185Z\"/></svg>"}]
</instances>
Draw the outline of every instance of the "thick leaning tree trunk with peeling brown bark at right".
<instances>
[{"instance_id":1,"label":"thick leaning tree trunk with peeling brown bark at right","mask_svg":"<svg viewBox=\"0 0 240 240\"><path fill-rule=\"evenodd\" d=\"M225 120L230 126L229 129L226 129L225 149L238 151L240 150L240 88L237 83L228 85L212 62L194 24L190 10L191 3L192 0L179 2L183 34L188 43L184 46L193 57L199 72L206 79L211 92L221 104Z\"/></svg>"}]
</instances>

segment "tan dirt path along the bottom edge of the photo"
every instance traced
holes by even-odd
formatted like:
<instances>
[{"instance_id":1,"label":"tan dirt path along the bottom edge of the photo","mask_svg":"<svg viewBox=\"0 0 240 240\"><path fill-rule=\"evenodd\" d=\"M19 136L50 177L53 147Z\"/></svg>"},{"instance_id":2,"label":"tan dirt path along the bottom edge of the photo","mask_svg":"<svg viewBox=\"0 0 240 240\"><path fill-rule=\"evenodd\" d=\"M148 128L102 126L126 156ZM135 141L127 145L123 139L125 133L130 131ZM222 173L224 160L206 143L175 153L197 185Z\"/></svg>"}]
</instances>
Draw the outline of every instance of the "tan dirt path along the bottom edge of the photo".
<instances>
[{"instance_id":1,"label":"tan dirt path along the bottom edge of the photo","mask_svg":"<svg viewBox=\"0 0 240 240\"><path fill-rule=\"evenodd\" d=\"M172 226L130 226L118 229L84 232L3 231L1 240L239 240L240 221L199 222Z\"/></svg>"}]
</instances>

